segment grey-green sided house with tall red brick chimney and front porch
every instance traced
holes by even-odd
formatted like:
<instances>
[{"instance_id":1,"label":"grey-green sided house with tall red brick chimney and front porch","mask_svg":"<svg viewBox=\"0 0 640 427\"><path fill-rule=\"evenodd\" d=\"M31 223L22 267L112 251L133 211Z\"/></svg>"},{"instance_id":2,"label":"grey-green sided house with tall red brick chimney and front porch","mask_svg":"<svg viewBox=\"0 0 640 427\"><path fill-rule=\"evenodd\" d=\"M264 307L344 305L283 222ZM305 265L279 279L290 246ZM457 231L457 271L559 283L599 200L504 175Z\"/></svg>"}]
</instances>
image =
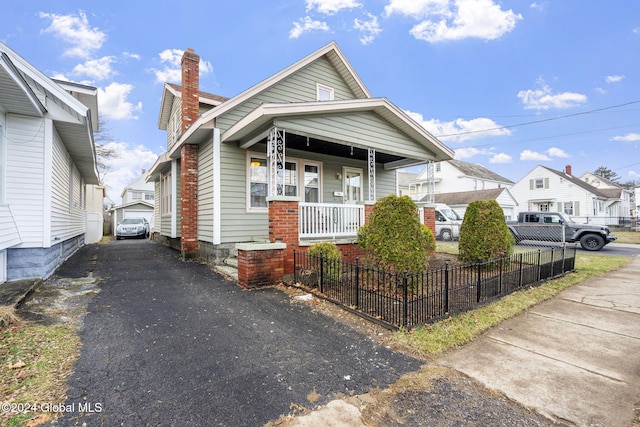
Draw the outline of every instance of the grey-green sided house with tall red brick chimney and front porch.
<instances>
[{"instance_id":1,"label":"grey-green sided house with tall red brick chimney and front porch","mask_svg":"<svg viewBox=\"0 0 640 427\"><path fill-rule=\"evenodd\" d=\"M395 194L397 169L453 156L373 98L336 43L230 99L199 91L198 64L187 50L182 86L164 86L167 152L149 177L154 237L185 257L220 262L236 243L268 240L271 198L299 201L329 226L326 215Z\"/></svg>"}]
</instances>

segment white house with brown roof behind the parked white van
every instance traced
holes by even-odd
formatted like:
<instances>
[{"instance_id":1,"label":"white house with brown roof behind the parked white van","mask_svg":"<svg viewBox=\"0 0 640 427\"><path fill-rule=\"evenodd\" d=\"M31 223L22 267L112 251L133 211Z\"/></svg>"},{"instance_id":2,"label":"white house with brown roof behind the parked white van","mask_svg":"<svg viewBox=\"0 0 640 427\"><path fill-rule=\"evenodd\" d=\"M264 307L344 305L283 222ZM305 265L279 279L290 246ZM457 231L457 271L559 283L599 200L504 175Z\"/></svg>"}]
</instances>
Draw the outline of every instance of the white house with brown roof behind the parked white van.
<instances>
[{"instance_id":1,"label":"white house with brown roof behind the parked white van","mask_svg":"<svg viewBox=\"0 0 640 427\"><path fill-rule=\"evenodd\" d=\"M435 194L460 191L509 188L513 181L475 163L461 160L446 160L433 165ZM428 170L425 168L411 183L415 188L415 199L424 199L428 194ZM506 212L505 212L506 214Z\"/></svg>"}]
</instances>

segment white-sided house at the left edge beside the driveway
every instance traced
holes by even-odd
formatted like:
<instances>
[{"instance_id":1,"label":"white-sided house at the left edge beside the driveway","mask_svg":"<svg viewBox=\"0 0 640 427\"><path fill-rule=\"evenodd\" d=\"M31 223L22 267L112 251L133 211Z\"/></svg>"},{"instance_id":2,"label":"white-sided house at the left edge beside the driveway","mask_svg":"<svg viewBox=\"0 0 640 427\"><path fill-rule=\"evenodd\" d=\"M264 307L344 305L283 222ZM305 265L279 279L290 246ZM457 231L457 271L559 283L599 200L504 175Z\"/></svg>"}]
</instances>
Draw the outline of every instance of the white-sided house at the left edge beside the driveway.
<instances>
[{"instance_id":1,"label":"white-sided house at the left edge beside the driveway","mask_svg":"<svg viewBox=\"0 0 640 427\"><path fill-rule=\"evenodd\" d=\"M97 119L96 88L52 80L0 42L0 283L46 278L85 243Z\"/></svg>"}]
</instances>

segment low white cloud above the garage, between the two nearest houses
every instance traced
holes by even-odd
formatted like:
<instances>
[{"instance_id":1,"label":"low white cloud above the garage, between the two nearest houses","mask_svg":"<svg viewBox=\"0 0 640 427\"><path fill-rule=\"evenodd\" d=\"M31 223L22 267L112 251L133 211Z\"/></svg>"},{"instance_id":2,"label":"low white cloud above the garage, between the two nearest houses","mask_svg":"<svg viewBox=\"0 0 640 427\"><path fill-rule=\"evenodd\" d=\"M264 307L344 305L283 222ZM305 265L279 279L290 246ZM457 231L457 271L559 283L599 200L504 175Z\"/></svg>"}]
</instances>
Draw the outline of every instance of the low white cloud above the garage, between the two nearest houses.
<instances>
[{"instance_id":1,"label":"low white cloud above the garage, between the two nearest houses","mask_svg":"<svg viewBox=\"0 0 640 427\"><path fill-rule=\"evenodd\" d=\"M102 179L107 187L107 195L114 203L122 203L122 189L142 175L142 170L149 170L158 156L143 145L131 147L126 142L109 142L105 148L115 154L107 160L107 171Z\"/></svg>"}]
</instances>

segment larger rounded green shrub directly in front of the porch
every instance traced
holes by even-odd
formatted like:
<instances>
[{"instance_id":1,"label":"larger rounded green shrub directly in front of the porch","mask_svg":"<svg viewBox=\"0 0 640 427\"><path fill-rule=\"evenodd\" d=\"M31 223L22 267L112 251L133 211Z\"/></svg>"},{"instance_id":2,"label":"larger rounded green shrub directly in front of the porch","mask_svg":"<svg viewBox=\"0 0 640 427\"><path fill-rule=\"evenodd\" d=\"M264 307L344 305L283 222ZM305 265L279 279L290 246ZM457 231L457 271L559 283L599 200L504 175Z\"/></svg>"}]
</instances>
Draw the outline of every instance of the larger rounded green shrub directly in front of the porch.
<instances>
[{"instance_id":1,"label":"larger rounded green shrub directly in front of the porch","mask_svg":"<svg viewBox=\"0 0 640 427\"><path fill-rule=\"evenodd\" d=\"M358 231L358 245L369 262L398 273L420 272L435 251L435 238L420 223L416 204L407 196L380 199L369 222Z\"/></svg>"}]
</instances>

